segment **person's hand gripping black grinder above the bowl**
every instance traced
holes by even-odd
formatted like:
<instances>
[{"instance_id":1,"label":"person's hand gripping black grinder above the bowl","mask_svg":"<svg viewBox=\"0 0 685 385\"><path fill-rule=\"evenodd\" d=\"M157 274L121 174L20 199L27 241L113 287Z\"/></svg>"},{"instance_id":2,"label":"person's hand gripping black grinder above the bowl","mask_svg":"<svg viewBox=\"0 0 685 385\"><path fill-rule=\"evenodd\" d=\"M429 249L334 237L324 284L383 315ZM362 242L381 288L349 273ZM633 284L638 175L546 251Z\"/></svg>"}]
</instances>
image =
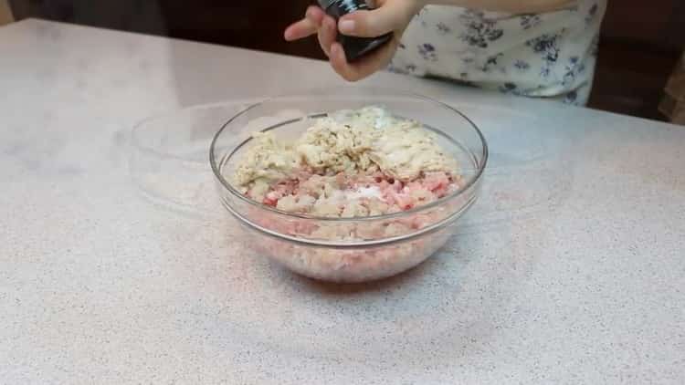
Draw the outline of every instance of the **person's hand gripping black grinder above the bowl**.
<instances>
[{"instance_id":1,"label":"person's hand gripping black grinder above the bowl","mask_svg":"<svg viewBox=\"0 0 685 385\"><path fill-rule=\"evenodd\" d=\"M293 41L317 34L319 45L329 57L335 72L348 81L366 78L390 63L406 26L425 4L422 0L379 0L376 3L378 8L374 10L342 16L337 25L335 19L326 15L320 7L311 5L303 19L285 30L285 39ZM349 63L341 44L335 41L338 31L347 36L360 37L393 32L393 38L383 47Z\"/></svg>"}]
</instances>

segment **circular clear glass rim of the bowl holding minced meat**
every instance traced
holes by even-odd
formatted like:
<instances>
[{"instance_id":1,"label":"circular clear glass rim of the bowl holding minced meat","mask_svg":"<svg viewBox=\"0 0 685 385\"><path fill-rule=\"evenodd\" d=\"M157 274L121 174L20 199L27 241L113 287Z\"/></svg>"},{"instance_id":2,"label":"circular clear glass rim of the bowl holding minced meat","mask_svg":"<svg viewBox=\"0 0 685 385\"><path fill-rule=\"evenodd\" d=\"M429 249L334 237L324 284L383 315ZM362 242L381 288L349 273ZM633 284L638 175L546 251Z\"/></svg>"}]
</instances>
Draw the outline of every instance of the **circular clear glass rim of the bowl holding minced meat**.
<instances>
[{"instance_id":1,"label":"circular clear glass rim of the bowl holding minced meat","mask_svg":"<svg viewBox=\"0 0 685 385\"><path fill-rule=\"evenodd\" d=\"M325 89L327 89L327 88L310 88L310 89L295 91L295 92L291 92L288 94L281 94L281 95L278 95L275 97L263 99L261 101L258 101L256 103L252 104L248 108L239 111L236 115L234 115L229 120L227 120L227 122L224 123L224 125L221 126L221 128L218 131L216 131L216 134L215 134L214 138L212 139L212 143L209 147L209 163L212 167L212 172L214 173L216 180L221 183L222 187L224 189L226 189L228 192L230 192L231 195L233 195L234 197L237 197L238 199L240 199L241 201L243 201L245 203L248 203L248 204L250 204L250 205L252 205L258 209L265 210L265 211L270 212L270 213L279 214L279 215L282 215L282 216L285 216L288 218L298 218L298 219L305 219L305 220L321 221L322 223L357 223L357 222L361 222L361 221L366 222L366 221L387 220L387 219L393 219L393 218L397 218L397 217L409 216L411 214L426 212L432 208L436 208L436 207L442 205L443 203L446 203L448 201L452 201L453 199L458 198L464 192L468 192L471 189L471 187L477 185L479 183L480 179L482 178L483 173L485 172L485 169L488 165L489 154L490 154L490 151L488 148L488 141L485 139L485 136L479 130L476 123L474 123L473 120L470 120L469 117L466 116L463 112L459 111L458 109L453 108L452 106L448 105L447 103L444 103L444 102L439 101L437 99L429 98L427 96L418 94L416 92L402 91L402 90L398 90L395 88L347 87L345 89L373 90L376 93L381 91L382 93L384 93L387 96L405 96L405 97L410 97L413 99L422 99L422 100L425 100L429 103L437 104L438 106L441 106L443 108L446 108L446 109L449 109L449 110L455 112L458 116L460 116L462 119L466 120L469 123L470 128L476 132L476 134L479 137L480 144L482 145L482 154L481 154L482 159L479 162L480 164L477 164L478 169L477 169L476 174L472 178L470 178L470 180L467 184L465 184L464 186L461 186L461 188L459 188L458 191L452 192L452 193L450 193L450 194L448 194L448 195L446 195L440 199L437 199L434 202L428 203L426 205L418 206L418 207L412 208L410 210L406 210L406 211L398 212L398 213L386 213L386 214L381 214L381 215L357 216L357 217L351 217L351 218L326 217L326 216L310 215L310 214L305 214L305 213L289 213L289 212L286 212L283 210L279 210L275 207L271 207L271 206L264 204L264 203L258 203L257 201L249 199L244 194L238 192L231 185L231 183L228 182L226 180L226 178L224 178L224 175L221 173L220 169L224 163L224 159L222 158L222 160L219 162L216 161L216 142L219 139L219 137L221 136L221 134L224 132L224 130L226 130L227 127L230 126L230 124L233 121L237 120L239 117L241 117L243 114L247 113L249 110L255 109L258 106L264 105L265 103L269 103L270 101L275 101L278 99L295 97L295 96L306 97L308 94L313 94L317 91L322 91ZM316 115L316 114L308 114L307 116L311 116L311 115ZM282 124L282 122L279 124ZM274 127L278 127L278 125L269 126L266 129L260 130L260 132L263 132L266 130L271 130ZM437 130L437 129L433 129L433 130ZM437 131L444 132L442 130L437 130ZM252 137L248 138L247 140L243 140L239 144L237 144L234 148L232 148L230 153L228 154L228 158L230 158L235 153L235 151L237 151L237 149L241 148L243 145L245 145L251 139L252 139ZM458 144L461 144L461 143L458 142ZM471 155L476 155L471 151L469 151L469 153Z\"/></svg>"}]
</instances>

